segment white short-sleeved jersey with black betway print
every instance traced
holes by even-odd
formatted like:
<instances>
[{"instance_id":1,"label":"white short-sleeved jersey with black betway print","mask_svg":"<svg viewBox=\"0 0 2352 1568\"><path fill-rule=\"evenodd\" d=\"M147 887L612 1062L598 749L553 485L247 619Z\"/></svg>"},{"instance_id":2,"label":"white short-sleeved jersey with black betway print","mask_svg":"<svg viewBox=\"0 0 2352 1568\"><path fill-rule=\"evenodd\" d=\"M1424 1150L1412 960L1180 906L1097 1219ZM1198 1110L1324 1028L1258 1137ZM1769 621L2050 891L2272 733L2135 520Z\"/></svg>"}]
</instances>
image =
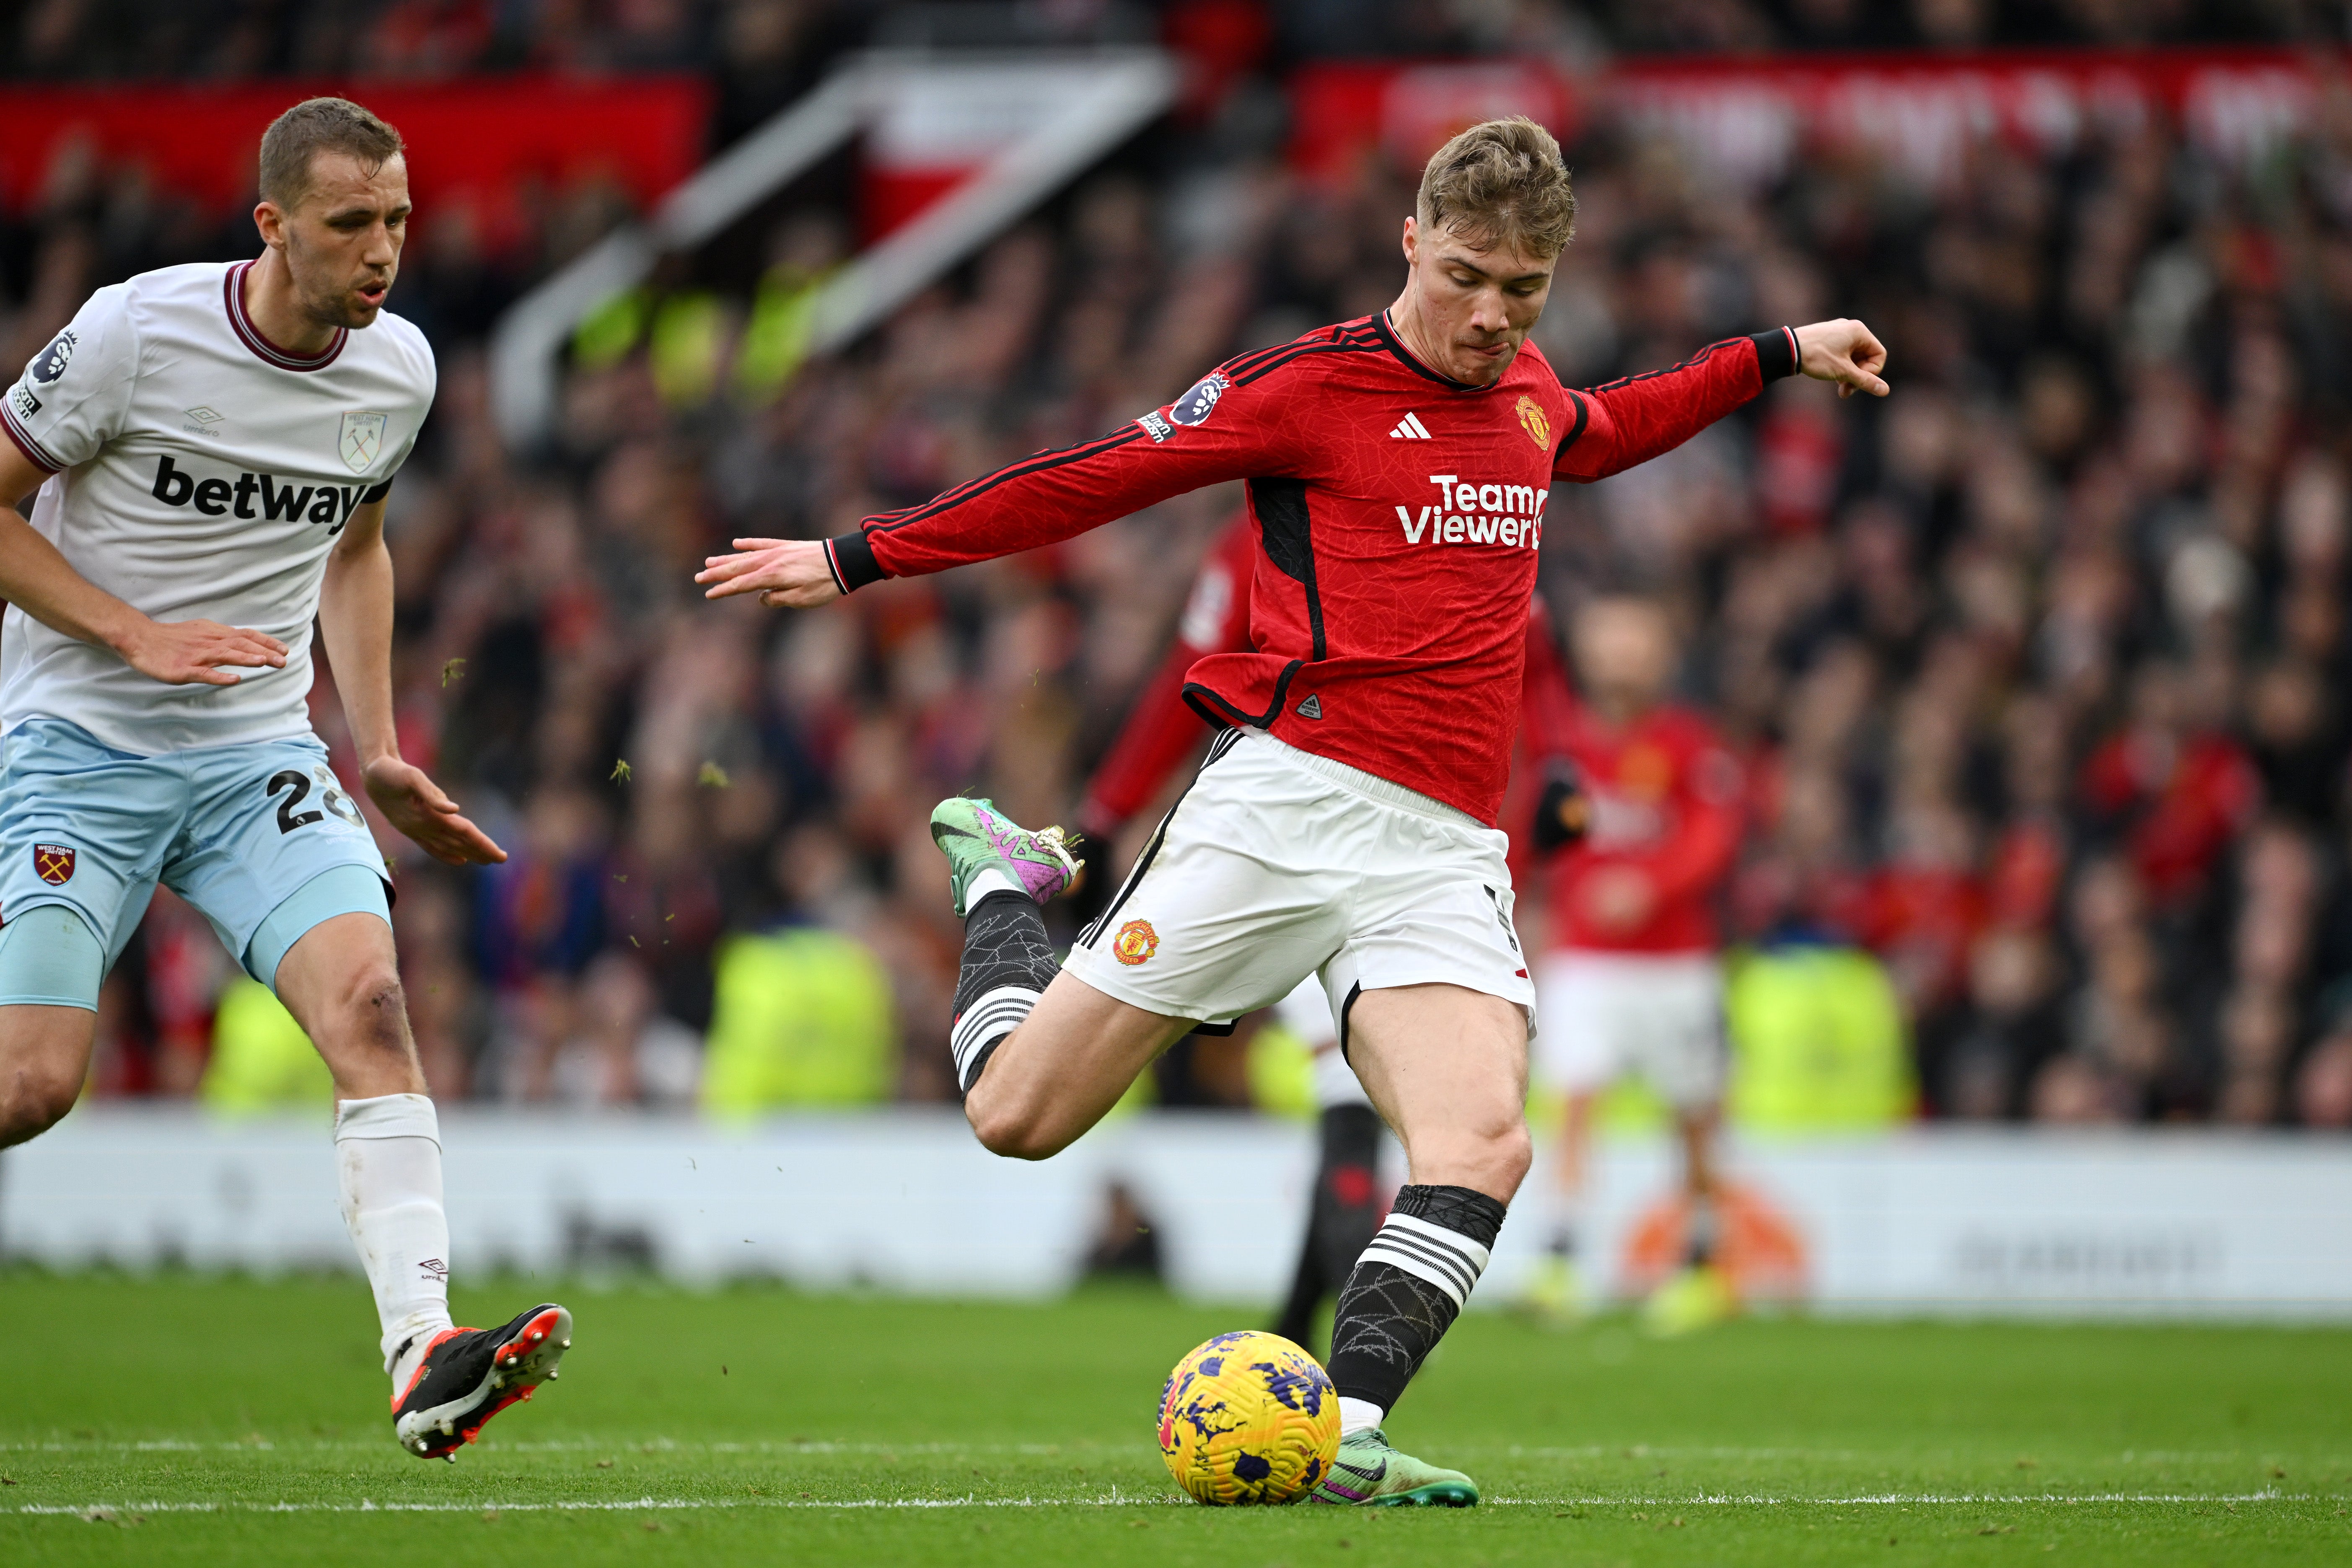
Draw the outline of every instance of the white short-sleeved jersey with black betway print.
<instances>
[{"instance_id":1,"label":"white short-sleeved jersey with black betway print","mask_svg":"<svg viewBox=\"0 0 2352 1568\"><path fill-rule=\"evenodd\" d=\"M146 757L308 731L327 550L416 444L433 350L379 315L318 357L289 355L245 315L249 266L99 289L0 395L0 428L52 475L33 527L75 571L155 621L268 632L285 670L165 686L9 607L0 731L45 715Z\"/></svg>"}]
</instances>

